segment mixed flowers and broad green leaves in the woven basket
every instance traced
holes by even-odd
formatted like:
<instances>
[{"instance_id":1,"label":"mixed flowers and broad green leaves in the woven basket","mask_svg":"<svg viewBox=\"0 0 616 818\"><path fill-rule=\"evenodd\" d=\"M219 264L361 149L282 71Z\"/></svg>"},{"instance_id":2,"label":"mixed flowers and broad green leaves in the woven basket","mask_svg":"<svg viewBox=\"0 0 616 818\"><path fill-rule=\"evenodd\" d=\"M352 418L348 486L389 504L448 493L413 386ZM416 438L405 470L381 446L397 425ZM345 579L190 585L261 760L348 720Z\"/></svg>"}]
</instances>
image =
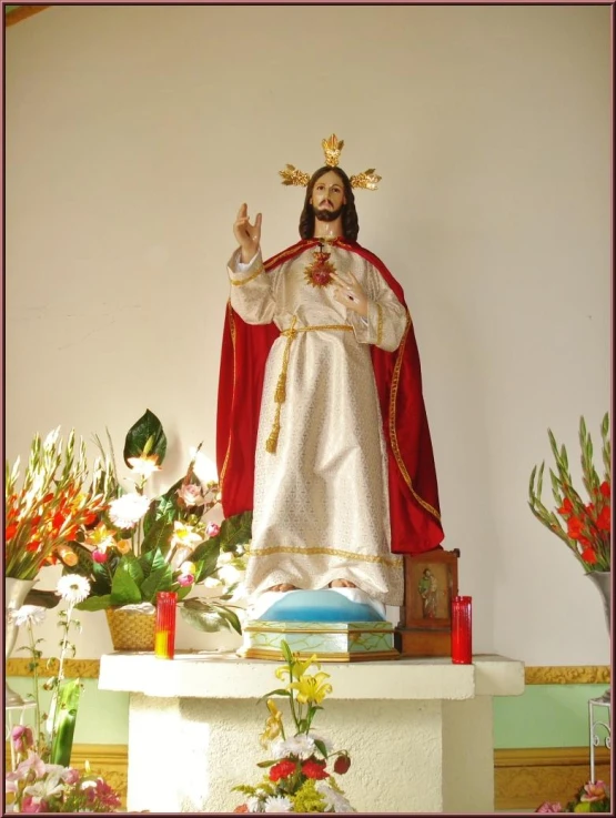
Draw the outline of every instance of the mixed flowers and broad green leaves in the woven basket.
<instances>
[{"instance_id":1,"label":"mixed flowers and broad green leaves in the woven basket","mask_svg":"<svg viewBox=\"0 0 616 818\"><path fill-rule=\"evenodd\" d=\"M218 483L203 486L195 474L201 446L184 476L150 498L148 482L161 471L166 454L166 436L159 418L147 410L125 436L123 460L131 472L132 491L125 491L118 478L111 441L109 452L98 437L95 442L104 458L97 488L107 503L92 525L70 544L77 558L63 559L67 573L80 574L90 582L90 595L80 609L137 605L153 610L161 590L175 592L181 602L198 583L216 578L222 563L243 569L250 515L225 519L221 526L206 522L220 495ZM226 556L219 564L221 552ZM200 613L205 608L216 627L241 633L234 606L228 604L235 585L223 586L216 600L194 599L184 605Z\"/></svg>"}]
</instances>

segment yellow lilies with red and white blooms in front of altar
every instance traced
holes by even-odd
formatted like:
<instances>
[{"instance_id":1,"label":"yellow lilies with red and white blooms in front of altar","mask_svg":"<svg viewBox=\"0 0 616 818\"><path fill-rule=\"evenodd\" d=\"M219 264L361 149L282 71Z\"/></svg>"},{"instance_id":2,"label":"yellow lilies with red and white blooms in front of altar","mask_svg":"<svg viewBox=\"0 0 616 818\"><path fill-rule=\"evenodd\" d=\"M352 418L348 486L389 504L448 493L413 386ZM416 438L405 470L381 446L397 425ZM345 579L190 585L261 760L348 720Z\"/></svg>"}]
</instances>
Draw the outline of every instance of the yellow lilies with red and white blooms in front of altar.
<instances>
[{"instance_id":1,"label":"yellow lilies with red and white blooms in front of altar","mask_svg":"<svg viewBox=\"0 0 616 818\"><path fill-rule=\"evenodd\" d=\"M260 737L261 745L270 749L270 760L257 767L267 768L260 784L254 787L239 785L233 790L248 796L245 804L234 812L355 812L344 797L335 778L327 771L333 759L333 771L344 775L351 759L346 750L332 751L329 741L312 729L312 721L321 703L332 691L326 681L329 674L321 673L316 656L302 662L291 653L285 642L281 643L285 665L276 669L284 688L271 690L266 698L269 716ZM314 665L317 673L309 675ZM294 729L287 736L284 717L272 696L285 697L289 701Z\"/></svg>"}]
</instances>

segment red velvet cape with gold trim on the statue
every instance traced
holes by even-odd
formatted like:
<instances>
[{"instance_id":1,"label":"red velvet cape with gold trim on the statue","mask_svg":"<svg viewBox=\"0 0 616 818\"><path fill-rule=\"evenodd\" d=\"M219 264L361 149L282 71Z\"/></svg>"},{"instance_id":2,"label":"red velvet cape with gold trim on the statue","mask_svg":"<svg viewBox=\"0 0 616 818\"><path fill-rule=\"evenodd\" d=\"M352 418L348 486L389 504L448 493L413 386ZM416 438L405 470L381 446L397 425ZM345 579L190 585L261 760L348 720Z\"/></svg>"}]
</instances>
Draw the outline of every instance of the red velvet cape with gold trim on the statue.
<instances>
[{"instance_id":1,"label":"red velvet cape with gold trim on the statue","mask_svg":"<svg viewBox=\"0 0 616 818\"><path fill-rule=\"evenodd\" d=\"M265 262L271 272L315 246L301 241ZM378 270L406 306L404 293L383 262L360 244L339 240ZM263 373L279 336L275 324L246 324L228 304L222 341L216 421L216 465L225 517L252 511L254 455ZM421 554L443 541L432 440L422 393L420 354L413 324L394 352L371 347L387 442L392 552Z\"/></svg>"}]
</instances>

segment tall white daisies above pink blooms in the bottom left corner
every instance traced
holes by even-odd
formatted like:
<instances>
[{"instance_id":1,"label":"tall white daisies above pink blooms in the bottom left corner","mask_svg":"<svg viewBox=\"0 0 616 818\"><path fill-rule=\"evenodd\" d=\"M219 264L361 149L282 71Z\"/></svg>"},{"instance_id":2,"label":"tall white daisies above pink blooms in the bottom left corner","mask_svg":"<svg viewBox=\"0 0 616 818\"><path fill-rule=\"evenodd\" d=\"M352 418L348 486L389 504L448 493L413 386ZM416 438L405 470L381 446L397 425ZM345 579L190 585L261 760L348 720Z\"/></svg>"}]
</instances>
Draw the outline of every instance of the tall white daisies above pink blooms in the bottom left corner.
<instances>
[{"instance_id":1,"label":"tall white daisies above pink blooms in the bottom left corner","mask_svg":"<svg viewBox=\"0 0 616 818\"><path fill-rule=\"evenodd\" d=\"M11 729L10 740L14 764L4 777L4 789L11 794L14 812L110 812L120 806L119 796L98 776L85 775L69 766L79 699L80 679L64 678L67 654L74 656L69 642L71 627L80 628L73 619L74 607L89 593L89 583L81 576L64 576L58 582L57 594L67 603L59 612L62 628L58 671L44 684L39 684L39 649L41 639L34 636L34 626L44 619L46 608L23 605L12 614L16 623L28 629L29 644L21 648L31 656L34 700L34 728L22 724ZM50 663L52 660L50 659ZM39 688L51 691L49 714L42 713Z\"/></svg>"}]
</instances>

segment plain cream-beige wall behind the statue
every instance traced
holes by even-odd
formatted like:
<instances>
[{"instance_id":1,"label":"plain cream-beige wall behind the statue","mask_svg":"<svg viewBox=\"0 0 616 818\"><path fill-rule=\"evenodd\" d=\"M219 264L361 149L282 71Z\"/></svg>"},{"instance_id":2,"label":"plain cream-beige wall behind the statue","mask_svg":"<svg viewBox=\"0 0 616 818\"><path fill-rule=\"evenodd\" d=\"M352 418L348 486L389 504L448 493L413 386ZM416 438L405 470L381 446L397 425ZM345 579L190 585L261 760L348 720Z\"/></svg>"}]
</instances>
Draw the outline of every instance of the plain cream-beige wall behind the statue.
<instances>
[{"instance_id":1,"label":"plain cream-beige wall behind the statue","mask_svg":"<svg viewBox=\"0 0 616 818\"><path fill-rule=\"evenodd\" d=\"M293 243L320 142L345 140L360 241L404 286L445 547L475 648L603 664L597 592L531 515L547 427L609 405L609 10L57 7L7 31L7 456L61 424L121 451L145 410L214 456L239 204ZM546 499L549 497L546 495ZM110 647L83 617L80 656ZM54 630L49 630L55 643ZM190 643L191 634L186 639Z\"/></svg>"}]
</instances>

